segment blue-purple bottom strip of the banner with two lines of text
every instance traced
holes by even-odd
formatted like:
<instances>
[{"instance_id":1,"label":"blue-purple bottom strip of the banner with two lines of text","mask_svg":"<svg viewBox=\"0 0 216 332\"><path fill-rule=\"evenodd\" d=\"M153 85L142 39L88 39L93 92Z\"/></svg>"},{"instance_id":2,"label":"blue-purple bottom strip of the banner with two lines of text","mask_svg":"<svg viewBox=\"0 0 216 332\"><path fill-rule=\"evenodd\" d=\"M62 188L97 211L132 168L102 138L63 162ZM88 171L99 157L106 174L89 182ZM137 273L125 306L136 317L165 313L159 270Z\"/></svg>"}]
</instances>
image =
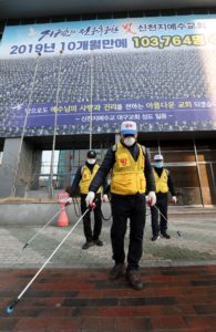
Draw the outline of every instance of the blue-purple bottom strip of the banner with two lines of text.
<instances>
[{"instance_id":1,"label":"blue-purple bottom strip of the banner with two lines of text","mask_svg":"<svg viewBox=\"0 0 216 332\"><path fill-rule=\"evenodd\" d=\"M138 129L148 132L162 131L205 131L216 126L216 102L207 100L175 100L175 101L135 101L122 103L96 103L92 105L94 133L117 132L122 121L135 121ZM88 133L90 125L89 103L18 105L12 108L10 124L4 127L7 136L19 133L27 120L28 135L53 134L56 121L58 134ZM27 116L27 118L25 118ZM1 133L0 133L1 134Z\"/></svg>"}]
</instances>

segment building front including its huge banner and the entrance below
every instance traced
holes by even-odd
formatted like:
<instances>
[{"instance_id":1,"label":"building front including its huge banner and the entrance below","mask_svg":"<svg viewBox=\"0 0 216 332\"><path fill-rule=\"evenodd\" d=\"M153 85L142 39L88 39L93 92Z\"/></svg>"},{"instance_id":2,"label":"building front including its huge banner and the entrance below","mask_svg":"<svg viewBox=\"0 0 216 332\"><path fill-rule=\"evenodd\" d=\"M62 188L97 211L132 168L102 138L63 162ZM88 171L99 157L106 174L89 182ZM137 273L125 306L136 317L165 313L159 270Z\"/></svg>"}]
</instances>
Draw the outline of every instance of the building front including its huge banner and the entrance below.
<instances>
[{"instance_id":1,"label":"building front including its huge banner and the entrance below","mask_svg":"<svg viewBox=\"0 0 216 332\"><path fill-rule=\"evenodd\" d=\"M163 154L178 204L216 205L214 9L85 19L2 19L0 196L53 196L89 148L101 160L120 123L134 120L152 160ZM18 24L40 42L7 49Z\"/></svg>"}]
</instances>

